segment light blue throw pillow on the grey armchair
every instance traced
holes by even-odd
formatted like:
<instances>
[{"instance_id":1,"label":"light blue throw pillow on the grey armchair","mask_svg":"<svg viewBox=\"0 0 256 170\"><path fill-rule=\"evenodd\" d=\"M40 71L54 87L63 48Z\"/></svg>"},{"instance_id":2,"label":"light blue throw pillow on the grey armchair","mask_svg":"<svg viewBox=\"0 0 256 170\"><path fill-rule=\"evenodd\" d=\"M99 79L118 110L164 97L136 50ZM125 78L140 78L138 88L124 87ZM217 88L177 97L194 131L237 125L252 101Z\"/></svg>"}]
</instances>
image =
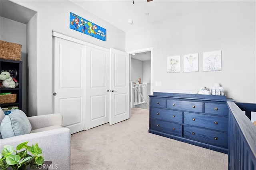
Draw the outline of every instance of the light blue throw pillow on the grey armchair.
<instances>
[{"instance_id":1,"label":"light blue throw pillow on the grey armchair","mask_svg":"<svg viewBox=\"0 0 256 170\"><path fill-rule=\"evenodd\" d=\"M11 113L2 120L0 131L3 139L24 135L30 133L31 124L22 110L12 109Z\"/></svg>"}]
</instances>

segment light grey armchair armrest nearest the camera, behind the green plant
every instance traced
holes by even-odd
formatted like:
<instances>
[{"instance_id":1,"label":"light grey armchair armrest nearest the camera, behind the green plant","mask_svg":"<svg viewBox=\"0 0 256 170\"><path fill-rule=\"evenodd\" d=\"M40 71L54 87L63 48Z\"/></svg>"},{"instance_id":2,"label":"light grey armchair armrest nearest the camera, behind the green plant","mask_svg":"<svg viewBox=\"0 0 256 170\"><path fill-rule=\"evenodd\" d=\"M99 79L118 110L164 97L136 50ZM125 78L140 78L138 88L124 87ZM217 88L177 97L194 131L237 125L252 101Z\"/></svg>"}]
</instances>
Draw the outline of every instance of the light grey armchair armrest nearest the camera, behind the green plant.
<instances>
[{"instance_id":1,"label":"light grey armchair armrest nearest the camera, behind the green plant","mask_svg":"<svg viewBox=\"0 0 256 170\"><path fill-rule=\"evenodd\" d=\"M38 143L42 149L44 160L51 160L49 170L71 170L71 135L68 128L53 129L38 133L29 133L5 139L0 139L0 150L4 145L16 147L22 142L28 141L28 145Z\"/></svg>"}]
</instances>

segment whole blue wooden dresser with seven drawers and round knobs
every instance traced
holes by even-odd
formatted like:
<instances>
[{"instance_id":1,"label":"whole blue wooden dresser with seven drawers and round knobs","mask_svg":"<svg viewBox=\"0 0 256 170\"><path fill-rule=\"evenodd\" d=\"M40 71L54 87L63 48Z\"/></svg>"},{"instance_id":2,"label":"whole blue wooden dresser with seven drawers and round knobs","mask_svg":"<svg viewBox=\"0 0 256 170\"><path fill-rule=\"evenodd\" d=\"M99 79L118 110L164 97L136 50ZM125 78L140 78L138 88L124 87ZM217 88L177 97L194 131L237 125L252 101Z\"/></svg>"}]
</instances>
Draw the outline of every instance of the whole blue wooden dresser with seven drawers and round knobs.
<instances>
[{"instance_id":1,"label":"whole blue wooden dresser with seven drawers and round knobs","mask_svg":"<svg viewBox=\"0 0 256 170\"><path fill-rule=\"evenodd\" d=\"M226 96L154 92L149 133L228 153Z\"/></svg>"}]
</instances>

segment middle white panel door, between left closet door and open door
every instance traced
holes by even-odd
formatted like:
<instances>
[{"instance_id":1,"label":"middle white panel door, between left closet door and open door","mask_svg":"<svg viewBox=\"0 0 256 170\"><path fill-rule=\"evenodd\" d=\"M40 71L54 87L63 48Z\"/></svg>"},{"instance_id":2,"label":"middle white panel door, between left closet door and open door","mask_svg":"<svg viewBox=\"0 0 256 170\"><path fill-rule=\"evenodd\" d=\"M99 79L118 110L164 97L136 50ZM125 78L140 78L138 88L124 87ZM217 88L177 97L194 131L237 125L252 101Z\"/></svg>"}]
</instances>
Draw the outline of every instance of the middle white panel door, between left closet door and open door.
<instances>
[{"instance_id":1,"label":"middle white panel door, between left closet door and open door","mask_svg":"<svg viewBox=\"0 0 256 170\"><path fill-rule=\"evenodd\" d=\"M110 52L86 46L85 127L90 129L109 122Z\"/></svg>"}]
</instances>

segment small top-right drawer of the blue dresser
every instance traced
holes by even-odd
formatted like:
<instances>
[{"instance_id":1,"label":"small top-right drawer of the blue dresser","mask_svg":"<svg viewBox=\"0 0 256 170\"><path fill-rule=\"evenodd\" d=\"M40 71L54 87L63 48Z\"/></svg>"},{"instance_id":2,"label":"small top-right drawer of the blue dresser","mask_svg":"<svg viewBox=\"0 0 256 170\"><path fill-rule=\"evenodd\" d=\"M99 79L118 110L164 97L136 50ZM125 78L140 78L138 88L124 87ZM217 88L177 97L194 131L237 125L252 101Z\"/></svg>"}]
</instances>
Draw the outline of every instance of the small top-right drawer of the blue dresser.
<instances>
[{"instance_id":1,"label":"small top-right drawer of the blue dresser","mask_svg":"<svg viewBox=\"0 0 256 170\"><path fill-rule=\"evenodd\" d=\"M228 106L227 104L205 103L204 112L228 116Z\"/></svg>"}]
</instances>

